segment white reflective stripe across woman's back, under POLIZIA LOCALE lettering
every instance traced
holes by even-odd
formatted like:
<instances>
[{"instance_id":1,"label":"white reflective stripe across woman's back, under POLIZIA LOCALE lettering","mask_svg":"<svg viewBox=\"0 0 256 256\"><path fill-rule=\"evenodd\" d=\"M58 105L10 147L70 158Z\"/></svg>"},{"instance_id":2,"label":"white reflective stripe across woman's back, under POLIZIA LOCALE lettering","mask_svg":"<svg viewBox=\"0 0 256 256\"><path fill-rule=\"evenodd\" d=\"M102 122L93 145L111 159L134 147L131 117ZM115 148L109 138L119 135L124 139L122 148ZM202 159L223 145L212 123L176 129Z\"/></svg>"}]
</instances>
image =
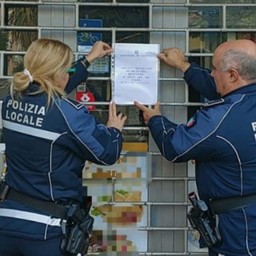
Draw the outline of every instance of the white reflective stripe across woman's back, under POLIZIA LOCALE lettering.
<instances>
[{"instance_id":1,"label":"white reflective stripe across woman's back, under POLIZIA LOCALE lettering","mask_svg":"<svg viewBox=\"0 0 256 256\"><path fill-rule=\"evenodd\" d=\"M2 126L9 130L15 130L22 134L28 134L39 138L47 138L54 141L61 134L57 134L48 130L40 130L30 126L23 126L21 124L2 120Z\"/></svg>"}]
</instances>

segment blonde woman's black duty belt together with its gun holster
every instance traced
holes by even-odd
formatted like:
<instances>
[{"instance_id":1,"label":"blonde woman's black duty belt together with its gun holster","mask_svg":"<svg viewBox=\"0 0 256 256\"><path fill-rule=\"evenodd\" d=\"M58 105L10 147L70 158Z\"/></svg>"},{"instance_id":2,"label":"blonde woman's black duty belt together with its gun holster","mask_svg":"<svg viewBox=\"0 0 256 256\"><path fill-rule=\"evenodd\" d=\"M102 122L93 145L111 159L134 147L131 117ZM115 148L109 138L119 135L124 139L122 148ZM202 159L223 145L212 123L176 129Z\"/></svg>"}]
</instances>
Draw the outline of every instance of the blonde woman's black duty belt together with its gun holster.
<instances>
[{"instance_id":1,"label":"blonde woman's black duty belt together with its gun holster","mask_svg":"<svg viewBox=\"0 0 256 256\"><path fill-rule=\"evenodd\" d=\"M55 202L43 201L13 190L5 182L0 182L0 202L15 200L34 209L43 210L57 218L62 218L63 254L76 256L78 253L87 253L89 236L94 226L94 218L89 214L90 207L81 209L78 205L69 207L58 205Z\"/></svg>"}]
</instances>

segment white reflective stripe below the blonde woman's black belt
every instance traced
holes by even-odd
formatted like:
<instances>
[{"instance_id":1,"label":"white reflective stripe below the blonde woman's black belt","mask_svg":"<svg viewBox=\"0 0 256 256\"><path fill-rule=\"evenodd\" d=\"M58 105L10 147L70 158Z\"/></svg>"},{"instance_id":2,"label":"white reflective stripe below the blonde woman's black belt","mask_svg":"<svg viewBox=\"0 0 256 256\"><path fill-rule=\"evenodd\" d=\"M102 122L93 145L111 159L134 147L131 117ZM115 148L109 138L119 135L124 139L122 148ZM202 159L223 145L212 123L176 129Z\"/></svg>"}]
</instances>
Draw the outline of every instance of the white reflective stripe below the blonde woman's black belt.
<instances>
[{"instance_id":1,"label":"white reflective stripe below the blonde woman's black belt","mask_svg":"<svg viewBox=\"0 0 256 256\"><path fill-rule=\"evenodd\" d=\"M61 218L50 218L50 216L42 215L42 214L34 214L28 211L22 210L13 210L0 208L0 216L10 217L10 218L20 218L26 221L38 222L50 226L61 226Z\"/></svg>"}]
</instances>

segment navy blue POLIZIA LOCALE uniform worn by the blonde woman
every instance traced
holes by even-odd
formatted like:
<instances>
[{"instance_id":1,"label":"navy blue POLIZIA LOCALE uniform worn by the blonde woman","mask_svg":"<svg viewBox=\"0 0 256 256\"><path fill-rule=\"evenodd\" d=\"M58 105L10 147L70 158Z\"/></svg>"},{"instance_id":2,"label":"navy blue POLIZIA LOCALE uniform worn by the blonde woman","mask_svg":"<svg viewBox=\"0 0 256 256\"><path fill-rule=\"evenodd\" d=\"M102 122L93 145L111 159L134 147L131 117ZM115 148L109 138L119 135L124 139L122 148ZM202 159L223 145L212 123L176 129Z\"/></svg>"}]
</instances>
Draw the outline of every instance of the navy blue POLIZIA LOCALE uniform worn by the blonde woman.
<instances>
[{"instance_id":1,"label":"navy blue POLIZIA LOCALE uniform worn by the blonde woman","mask_svg":"<svg viewBox=\"0 0 256 256\"><path fill-rule=\"evenodd\" d=\"M87 78L81 62L74 66L77 73L70 78L67 93ZM47 106L46 94L33 94L36 90L38 86L32 83L21 100L8 96L2 103L6 183L38 199L79 204L84 163L114 164L121 153L122 134L96 122L86 107L74 100L56 96ZM60 218L19 202L0 203L0 234L4 236L38 241L56 238L60 242L60 223ZM51 255L50 250L44 253Z\"/></svg>"}]
</instances>

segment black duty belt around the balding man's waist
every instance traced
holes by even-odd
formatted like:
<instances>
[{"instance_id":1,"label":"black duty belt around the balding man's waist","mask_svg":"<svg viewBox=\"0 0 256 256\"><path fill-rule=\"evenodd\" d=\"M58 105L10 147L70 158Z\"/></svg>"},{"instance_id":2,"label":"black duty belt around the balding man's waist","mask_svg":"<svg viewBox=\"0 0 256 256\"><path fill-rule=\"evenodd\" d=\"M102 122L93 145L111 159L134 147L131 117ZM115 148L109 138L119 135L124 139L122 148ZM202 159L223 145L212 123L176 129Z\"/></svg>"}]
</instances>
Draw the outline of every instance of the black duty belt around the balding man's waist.
<instances>
[{"instance_id":1,"label":"black duty belt around the balding man's waist","mask_svg":"<svg viewBox=\"0 0 256 256\"><path fill-rule=\"evenodd\" d=\"M212 210L214 210L214 214L224 214L230 210L238 210L246 206L256 205L256 194L210 200L210 205Z\"/></svg>"}]
</instances>

